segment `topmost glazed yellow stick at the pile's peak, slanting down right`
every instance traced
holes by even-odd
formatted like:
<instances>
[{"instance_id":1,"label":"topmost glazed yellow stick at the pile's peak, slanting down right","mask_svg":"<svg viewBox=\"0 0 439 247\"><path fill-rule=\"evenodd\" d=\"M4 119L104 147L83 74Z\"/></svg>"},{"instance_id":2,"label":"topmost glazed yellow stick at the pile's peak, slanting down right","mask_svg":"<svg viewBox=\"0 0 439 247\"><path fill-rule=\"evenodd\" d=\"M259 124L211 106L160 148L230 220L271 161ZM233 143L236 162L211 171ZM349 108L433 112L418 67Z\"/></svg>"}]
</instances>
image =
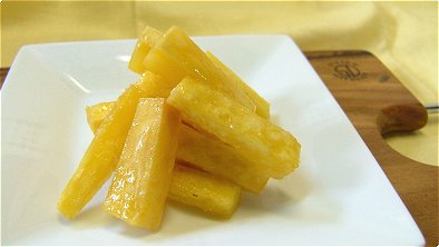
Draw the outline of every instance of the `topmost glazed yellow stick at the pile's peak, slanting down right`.
<instances>
[{"instance_id":1,"label":"topmost glazed yellow stick at the pile's peak, slanting down right","mask_svg":"<svg viewBox=\"0 0 439 247\"><path fill-rule=\"evenodd\" d=\"M205 80L237 102L255 110L255 105L241 88L207 58L203 50L179 28L172 27L145 57L146 69L168 77L175 85L185 76Z\"/></svg>"}]
</instances>

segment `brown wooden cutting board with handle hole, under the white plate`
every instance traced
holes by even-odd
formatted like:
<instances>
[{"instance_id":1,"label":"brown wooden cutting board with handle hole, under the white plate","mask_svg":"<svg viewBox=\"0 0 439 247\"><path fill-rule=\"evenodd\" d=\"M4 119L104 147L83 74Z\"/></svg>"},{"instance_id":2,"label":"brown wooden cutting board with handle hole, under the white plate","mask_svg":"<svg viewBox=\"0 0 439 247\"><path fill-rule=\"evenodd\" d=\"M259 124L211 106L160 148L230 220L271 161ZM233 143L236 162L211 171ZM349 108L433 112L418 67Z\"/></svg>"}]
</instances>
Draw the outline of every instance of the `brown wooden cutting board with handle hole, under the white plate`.
<instances>
[{"instance_id":1,"label":"brown wooden cutting board with handle hole, under the white plate","mask_svg":"<svg viewBox=\"0 0 439 247\"><path fill-rule=\"evenodd\" d=\"M439 243L438 167L401 156L382 137L422 128L428 120L426 109L367 51L304 53L384 170L427 245L436 246ZM7 72L8 68L1 69L1 85Z\"/></svg>"}]
</instances>

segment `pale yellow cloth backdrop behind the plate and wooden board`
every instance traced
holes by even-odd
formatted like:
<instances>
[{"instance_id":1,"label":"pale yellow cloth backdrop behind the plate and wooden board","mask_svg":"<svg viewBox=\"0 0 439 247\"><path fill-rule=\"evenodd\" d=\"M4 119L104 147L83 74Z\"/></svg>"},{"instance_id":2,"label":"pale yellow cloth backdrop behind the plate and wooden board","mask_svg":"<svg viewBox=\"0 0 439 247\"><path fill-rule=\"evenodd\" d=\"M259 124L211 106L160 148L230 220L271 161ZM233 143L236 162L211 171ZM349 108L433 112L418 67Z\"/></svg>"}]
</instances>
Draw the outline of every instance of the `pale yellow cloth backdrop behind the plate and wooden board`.
<instances>
[{"instance_id":1,"label":"pale yellow cloth backdrop behind the plate and wooden board","mask_svg":"<svg viewBox=\"0 0 439 247\"><path fill-rule=\"evenodd\" d=\"M1 67L28 43L136 38L143 28L177 24L192 36L283 33L302 50L364 49L423 103L438 102L438 3L145 2L1 3ZM423 129L388 142L438 165L438 115ZM416 147L416 148L414 148Z\"/></svg>"}]
</instances>

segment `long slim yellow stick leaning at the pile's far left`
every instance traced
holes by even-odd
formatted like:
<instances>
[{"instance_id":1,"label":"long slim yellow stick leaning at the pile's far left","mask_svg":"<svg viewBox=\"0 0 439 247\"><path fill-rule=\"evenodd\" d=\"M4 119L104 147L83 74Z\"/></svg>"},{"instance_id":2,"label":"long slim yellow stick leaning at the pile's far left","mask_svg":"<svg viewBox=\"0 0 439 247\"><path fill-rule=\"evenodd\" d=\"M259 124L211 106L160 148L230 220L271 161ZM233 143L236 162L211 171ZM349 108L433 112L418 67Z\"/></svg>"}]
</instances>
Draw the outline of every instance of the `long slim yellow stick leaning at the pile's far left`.
<instances>
[{"instance_id":1,"label":"long slim yellow stick leaning at the pile's far left","mask_svg":"<svg viewBox=\"0 0 439 247\"><path fill-rule=\"evenodd\" d=\"M58 200L58 210L65 217L74 218L111 175L143 96L138 85L129 86L97 129Z\"/></svg>"}]
</instances>

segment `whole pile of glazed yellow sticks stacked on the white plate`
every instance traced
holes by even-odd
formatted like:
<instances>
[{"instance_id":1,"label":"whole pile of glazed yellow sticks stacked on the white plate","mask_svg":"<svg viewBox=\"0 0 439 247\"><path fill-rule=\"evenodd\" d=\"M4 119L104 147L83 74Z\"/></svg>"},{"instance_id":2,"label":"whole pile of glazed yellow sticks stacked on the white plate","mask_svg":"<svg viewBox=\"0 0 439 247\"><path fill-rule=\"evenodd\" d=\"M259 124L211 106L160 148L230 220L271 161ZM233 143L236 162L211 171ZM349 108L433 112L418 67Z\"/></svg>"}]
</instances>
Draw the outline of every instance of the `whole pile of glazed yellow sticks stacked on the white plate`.
<instances>
[{"instance_id":1,"label":"whole pile of glazed yellow sticks stacked on the white plate","mask_svg":"<svg viewBox=\"0 0 439 247\"><path fill-rule=\"evenodd\" d=\"M86 108L95 137L58 200L74 218L114 172L103 208L160 228L167 198L222 218L244 189L299 166L301 146L270 122L270 105L182 29L146 27L128 69L139 75L114 102Z\"/></svg>"}]
</instances>

